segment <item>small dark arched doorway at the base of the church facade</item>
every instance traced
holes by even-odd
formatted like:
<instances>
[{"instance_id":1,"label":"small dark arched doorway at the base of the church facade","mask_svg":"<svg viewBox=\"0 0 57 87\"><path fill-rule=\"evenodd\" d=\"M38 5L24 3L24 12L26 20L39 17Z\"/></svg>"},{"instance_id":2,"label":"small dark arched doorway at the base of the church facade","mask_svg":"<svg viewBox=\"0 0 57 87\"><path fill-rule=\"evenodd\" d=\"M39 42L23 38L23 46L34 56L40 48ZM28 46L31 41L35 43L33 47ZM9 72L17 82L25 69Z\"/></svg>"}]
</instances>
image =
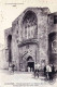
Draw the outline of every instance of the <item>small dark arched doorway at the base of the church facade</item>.
<instances>
[{"instance_id":1,"label":"small dark arched doorway at the base of the church facade","mask_svg":"<svg viewBox=\"0 0 57 87\"><path fill-rule=\"evenodd\" d=\"M33 72L34 71L34 61L32 57L27 58L27 72Z\"/></svg>"}]
</instances>

